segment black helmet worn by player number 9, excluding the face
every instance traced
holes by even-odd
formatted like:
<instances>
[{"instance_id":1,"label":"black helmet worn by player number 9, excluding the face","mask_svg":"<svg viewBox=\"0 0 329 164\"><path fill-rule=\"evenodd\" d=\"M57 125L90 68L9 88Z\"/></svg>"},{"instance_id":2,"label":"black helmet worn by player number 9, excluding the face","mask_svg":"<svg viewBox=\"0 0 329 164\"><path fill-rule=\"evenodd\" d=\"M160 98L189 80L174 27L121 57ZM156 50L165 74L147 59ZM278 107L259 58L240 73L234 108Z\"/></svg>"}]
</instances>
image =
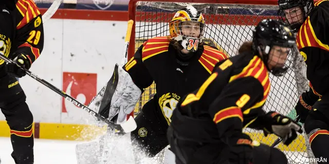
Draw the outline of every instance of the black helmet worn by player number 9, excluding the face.
<instances>
[{"instance_id":1,"label":"black helmet worn by player number 9, excluding the face","mask_svg":"<svg viewBox=\"0 0 329 164\"><path fill-rule=\"evenodd\" d=\"M275 19L264 19L260 22L253 31L252 49L258 54L264 61L267 69L275 76L284 75L294 58L296 57L293 52L296 45L296 37L286 24L280 20ZM288 59L285 60L285 64L282 66L274 66L269 69L268 64L271 62L272 57L270 56L271 49L273 46L279 46L289 48L290 52ZM262 55L260 55L260 53ZM287 61L290 63L287 64Z\"/></svg>"}]
</instances>

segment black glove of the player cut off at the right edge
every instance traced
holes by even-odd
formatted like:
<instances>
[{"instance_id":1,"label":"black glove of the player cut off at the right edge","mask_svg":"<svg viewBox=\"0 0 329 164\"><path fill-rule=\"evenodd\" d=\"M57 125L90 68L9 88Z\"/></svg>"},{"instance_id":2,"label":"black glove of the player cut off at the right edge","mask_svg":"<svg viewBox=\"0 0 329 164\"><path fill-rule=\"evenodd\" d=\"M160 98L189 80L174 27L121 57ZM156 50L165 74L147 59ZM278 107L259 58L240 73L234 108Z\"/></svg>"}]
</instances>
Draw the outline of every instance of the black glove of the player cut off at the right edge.
<instances>
[{"instance_id":1,"label":"black glove of the player cut off at the right edge","mask_svg":"<svg viewBox=\"0 0 329 164\"><path fill-rule=\"evenodd\" d=\"M312 106L319 99L319 96L315 95L312 91L304 92L299 96L299 101L295 106L297 115L300 116L300 122L304 124L308 112L312 110Z\"/></svg>"}]
</instances>

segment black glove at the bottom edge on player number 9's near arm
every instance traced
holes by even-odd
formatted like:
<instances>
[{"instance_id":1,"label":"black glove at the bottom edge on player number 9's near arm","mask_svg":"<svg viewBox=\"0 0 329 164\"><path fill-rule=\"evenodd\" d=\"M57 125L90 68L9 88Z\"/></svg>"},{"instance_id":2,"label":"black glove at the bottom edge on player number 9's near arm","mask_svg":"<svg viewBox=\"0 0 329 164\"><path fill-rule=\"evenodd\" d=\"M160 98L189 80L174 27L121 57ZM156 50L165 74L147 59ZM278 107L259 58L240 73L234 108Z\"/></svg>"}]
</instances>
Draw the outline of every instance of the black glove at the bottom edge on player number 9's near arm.
<instances>
[{"instance_id":1,"label":"black glove at the bottom edge on player number 9's near arm","mask_svg":"<svg viewBox=\"0 0 329 164\"><path fill-rule=\"evenodd\" d=\"M252 161L252 140L247 134L241 133L239 137L229 139L229 162L232 164L250 164Z\"/></svg>"}]
</instances>

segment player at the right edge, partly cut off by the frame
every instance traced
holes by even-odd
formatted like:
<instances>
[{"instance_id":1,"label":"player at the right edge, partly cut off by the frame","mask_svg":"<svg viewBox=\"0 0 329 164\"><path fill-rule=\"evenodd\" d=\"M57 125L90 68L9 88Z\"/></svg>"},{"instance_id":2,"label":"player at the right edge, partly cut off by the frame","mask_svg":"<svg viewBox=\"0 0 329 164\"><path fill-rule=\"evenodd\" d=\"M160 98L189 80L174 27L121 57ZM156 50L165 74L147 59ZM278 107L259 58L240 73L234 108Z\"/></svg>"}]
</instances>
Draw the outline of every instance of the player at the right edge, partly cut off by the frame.
<instances>
[{"instance_id":1,"label":"player at the right edge, partly cut off by the frame","mask_svg":"<svg viewBox=\"0 0 329 164\"><path fill-rule=\"evenodd\" d=\"M297 47L307 65L310 90L300 95L295 109L315 157L328 159L329 1L280 0L278 4L282 19L297 33Z\"/></svg>"}]
</instances>

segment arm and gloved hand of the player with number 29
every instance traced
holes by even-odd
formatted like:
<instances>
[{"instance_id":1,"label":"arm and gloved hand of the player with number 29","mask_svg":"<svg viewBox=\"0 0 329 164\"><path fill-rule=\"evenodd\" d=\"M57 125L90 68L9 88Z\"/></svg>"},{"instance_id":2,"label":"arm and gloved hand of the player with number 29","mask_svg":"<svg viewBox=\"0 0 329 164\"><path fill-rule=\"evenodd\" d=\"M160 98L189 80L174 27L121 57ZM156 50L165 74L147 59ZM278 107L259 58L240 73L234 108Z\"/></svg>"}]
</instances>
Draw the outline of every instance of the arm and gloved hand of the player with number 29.
<instances>
[{"instance_id":1,"label":"arm and gloved hand of the player with number 29","mask_svg":"<svg viewBox=\"0 0 329 164\"><path fill-rule=\"evenodd\" d=\"M30 69L43 50L43 23L38 7L30 0L19 0L13 14L16 20L15 38L9 57L14 63L7 64L6 70L10 75L23 77L26 73L20 67Z\"/></svg>"}]
</instances>

